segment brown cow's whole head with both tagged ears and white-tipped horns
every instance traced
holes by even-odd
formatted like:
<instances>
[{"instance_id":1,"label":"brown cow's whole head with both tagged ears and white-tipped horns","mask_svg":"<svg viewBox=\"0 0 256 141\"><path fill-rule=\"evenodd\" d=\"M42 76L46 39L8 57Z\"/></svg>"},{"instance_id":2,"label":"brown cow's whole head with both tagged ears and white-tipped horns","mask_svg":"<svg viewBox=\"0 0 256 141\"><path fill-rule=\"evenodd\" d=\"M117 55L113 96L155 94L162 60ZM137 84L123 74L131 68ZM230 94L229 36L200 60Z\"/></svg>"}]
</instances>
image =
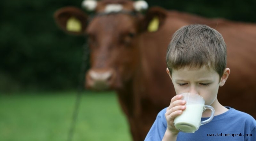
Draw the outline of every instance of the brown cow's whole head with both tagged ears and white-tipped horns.
<instances>
[{"instance_id":1,"label":"brown cow's whole head with both tagged ears and white-tipped horns","mask_svg":"<svg viewBox=\"0 0 256 141\"><path fill-rule=\"evenodd\" d=\"M144 16L140 12L148 5L142 0L84 0L82 7L94 14L87 16L76 7L64 7L54 14L56 23L69 34L88 36L91 69L86 87L120 89L139 67L141 33L156 32L165 11L156 7Z\"/></svg>"}]
</instances>

